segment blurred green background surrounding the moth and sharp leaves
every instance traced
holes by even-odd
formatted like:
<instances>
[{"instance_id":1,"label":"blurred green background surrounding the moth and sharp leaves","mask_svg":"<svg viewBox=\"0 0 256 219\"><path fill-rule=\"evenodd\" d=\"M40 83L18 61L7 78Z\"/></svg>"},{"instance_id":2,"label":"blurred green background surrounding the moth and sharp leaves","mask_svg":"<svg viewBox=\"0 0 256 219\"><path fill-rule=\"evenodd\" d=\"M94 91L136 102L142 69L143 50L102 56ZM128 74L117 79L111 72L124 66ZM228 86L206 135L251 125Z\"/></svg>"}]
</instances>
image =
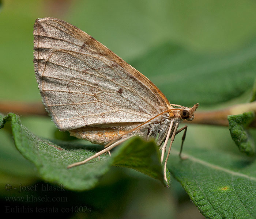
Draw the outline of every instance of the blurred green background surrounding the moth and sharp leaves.
<instances>
[{"instance_id":1,"label":"blurred green background surrounding the moth and sharp leaves","mask_svg":"<svg viewBox=\"0 0 256 219\"><path fill-rule=\"evenodd\" d=\"M47 16L65 20L107 46L153 81L171 103L199 102L200 109L213 109L249 99L256 76L254 0L5 0L0 11L0 101L41 101L32 61L33 24ZM49 117L21 120L39 137L54 138L56 128ZM227 127L191 125L186 142L239 153ZM6 196L19 196L6 191L5 184L43 183L33 164L15 149L7 130L0 130L0 157L2 205ZM28 193L42 196L41 191ZM68 212L65 218L203 218L174 179L166 189L125 168L113 167L91 191L50 195L68 197L68 202L30 207L91 209L88 214Z\"/></svg>"}]
</instances>

